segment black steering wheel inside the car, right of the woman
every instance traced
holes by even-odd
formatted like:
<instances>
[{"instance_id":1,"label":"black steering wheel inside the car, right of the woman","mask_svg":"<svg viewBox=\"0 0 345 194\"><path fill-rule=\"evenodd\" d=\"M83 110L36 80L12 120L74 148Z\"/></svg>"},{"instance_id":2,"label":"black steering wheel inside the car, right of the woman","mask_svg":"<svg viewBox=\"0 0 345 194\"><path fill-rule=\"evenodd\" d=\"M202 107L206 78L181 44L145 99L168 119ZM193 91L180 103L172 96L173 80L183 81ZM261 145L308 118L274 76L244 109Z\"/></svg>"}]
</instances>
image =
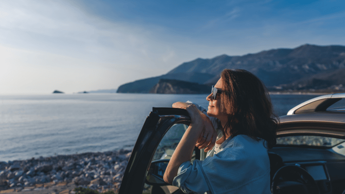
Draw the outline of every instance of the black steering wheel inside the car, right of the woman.
<instances>
[{"instance_id":1,"label":"black steering wheel inside the car, right of the woman","mask_svg":"<svg viewBox=\"0 0 345 194\"><path fill-rule=\"evenodd\" d=\"M271 192L272 194L320 194L311 175L296 165L285 165L276 171Z\"/></svg>"}]
</instances>

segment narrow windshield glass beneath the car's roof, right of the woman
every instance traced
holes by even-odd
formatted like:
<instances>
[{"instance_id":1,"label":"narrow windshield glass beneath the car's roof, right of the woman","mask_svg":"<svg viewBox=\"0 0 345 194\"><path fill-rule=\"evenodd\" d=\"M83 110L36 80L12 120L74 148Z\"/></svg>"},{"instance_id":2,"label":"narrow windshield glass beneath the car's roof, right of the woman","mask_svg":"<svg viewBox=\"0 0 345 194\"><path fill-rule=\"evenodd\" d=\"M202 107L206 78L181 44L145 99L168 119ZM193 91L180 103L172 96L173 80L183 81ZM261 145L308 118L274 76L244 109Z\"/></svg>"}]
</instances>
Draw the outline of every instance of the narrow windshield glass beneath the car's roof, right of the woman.
<instances>
[{"instance_id":1,"label":"narrow windshield glass beneath the car's roof, right of the woman","mask_svg":"<svg viewBox=\"0 0 345 194\"><path fill-rule=\"evenodd\" d=\"M313 135L286 136L276 138L277 145L307 145L333 147L344 141L344 139Z\"/></svg>"}]
</instances>

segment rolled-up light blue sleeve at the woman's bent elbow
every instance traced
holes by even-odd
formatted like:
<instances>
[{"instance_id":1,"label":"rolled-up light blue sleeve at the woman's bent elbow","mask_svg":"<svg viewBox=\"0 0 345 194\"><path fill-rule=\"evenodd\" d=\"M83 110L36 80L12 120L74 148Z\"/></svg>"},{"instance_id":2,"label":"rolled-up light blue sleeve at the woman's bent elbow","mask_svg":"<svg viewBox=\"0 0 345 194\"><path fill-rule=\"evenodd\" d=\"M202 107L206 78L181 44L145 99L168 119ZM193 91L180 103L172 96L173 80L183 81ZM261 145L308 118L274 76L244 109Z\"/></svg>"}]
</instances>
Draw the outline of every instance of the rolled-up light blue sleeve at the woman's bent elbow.
<instances>
[{"instance_id":1,"label":"rolled-up light blue sleeve at the woman's bent elbow","mask_svg":"<svg viewBox=\"0 0 345 194\"><path fill-rule=\"evenodd\" d=\"M209 193L201 161L195 160L193 164L190 161L183 162L173 179L173 186L179 187L185 194L192 191L198 194Z\"/></svg>"}]
</instances>

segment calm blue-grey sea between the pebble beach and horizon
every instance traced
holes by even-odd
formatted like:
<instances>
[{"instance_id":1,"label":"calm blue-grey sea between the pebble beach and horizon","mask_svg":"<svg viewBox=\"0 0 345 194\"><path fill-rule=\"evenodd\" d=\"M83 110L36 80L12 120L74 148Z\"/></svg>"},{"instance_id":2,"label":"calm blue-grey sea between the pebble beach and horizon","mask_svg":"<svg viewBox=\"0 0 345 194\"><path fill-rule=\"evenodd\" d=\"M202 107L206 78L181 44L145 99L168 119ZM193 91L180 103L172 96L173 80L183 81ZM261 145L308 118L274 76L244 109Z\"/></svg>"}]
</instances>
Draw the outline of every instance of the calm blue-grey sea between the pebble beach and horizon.
<instances>
[{"instance_id":1,"label":"calm blue-grey sea between the pebble beach and horizon","mask_svg":"<svg viewBox=\"0 0 345 194\"><path fill-rule=\"evenodd\" d=\"M132 149L152 107L207 95L55 94L0 96L0 161ZM271 95L285 115L312 95Z\"/></svg>"}]
</instances>

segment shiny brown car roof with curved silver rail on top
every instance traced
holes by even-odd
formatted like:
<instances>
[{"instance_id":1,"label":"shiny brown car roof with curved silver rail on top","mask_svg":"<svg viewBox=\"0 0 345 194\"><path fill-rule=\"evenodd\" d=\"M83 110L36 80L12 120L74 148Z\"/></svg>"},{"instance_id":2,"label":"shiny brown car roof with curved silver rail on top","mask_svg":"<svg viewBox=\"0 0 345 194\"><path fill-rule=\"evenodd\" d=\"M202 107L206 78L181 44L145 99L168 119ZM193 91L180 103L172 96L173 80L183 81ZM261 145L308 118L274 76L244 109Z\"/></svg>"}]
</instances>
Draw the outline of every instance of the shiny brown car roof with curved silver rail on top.
<instances>
[{"instance_id":1,"label":"shiny brown car roof with curved silver rail on top","mask_svg":"<svg viewBox=\"0 0 345 194\"><path fill-rule=\"evenodd\" d=\"M295 106L287 115L279 117L277 136L315 134L344 138L344 108L327 109L343 98L345 93L324 95Z\"/></svg>"}]
</instances>

